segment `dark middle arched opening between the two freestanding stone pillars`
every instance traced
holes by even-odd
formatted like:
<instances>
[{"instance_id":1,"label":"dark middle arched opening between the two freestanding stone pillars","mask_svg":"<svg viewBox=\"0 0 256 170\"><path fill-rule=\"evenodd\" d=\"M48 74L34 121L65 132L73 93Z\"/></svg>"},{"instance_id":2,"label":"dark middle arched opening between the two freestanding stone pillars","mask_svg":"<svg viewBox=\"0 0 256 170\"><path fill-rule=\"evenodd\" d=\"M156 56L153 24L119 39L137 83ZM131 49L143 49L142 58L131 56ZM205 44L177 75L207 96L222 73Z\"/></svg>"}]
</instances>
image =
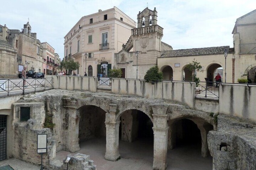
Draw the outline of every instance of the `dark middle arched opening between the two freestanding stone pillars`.
<instances>
[{"instance_id":1,"label":"dark middle arched opening between the two freestanding stone pillars","mask_svg":"<svg viewBox=\"0 0 256 170\"><path fill-rule=\"evenodd\" d=\"M152 168L154 151L153 122L140 110L126 110L121 114L119 152L125 157L140 158Z\"/></svg>"}]
</instances>

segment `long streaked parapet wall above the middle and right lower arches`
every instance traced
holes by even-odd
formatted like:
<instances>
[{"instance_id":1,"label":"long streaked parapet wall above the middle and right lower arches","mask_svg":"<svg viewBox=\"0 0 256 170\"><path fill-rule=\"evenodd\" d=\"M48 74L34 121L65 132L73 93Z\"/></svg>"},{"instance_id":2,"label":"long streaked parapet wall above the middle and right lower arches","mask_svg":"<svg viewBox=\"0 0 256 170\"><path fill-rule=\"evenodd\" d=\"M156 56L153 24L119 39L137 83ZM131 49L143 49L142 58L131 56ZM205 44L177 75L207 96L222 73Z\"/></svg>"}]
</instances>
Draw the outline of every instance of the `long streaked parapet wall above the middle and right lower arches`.
<instances>
[{"instance_id":1,"label":"long streaked parapet wall above the middle and right lower arches","mask_svg":"<svg viewBox=\"0 0 256 170\"><path fill-rule=\"evenodd\" d=\"M175 100L194 107L195 83L157 82L154 85L145 80L112 79L112 92L134 94L149 99Z\"/></svg>"}]
</instances>

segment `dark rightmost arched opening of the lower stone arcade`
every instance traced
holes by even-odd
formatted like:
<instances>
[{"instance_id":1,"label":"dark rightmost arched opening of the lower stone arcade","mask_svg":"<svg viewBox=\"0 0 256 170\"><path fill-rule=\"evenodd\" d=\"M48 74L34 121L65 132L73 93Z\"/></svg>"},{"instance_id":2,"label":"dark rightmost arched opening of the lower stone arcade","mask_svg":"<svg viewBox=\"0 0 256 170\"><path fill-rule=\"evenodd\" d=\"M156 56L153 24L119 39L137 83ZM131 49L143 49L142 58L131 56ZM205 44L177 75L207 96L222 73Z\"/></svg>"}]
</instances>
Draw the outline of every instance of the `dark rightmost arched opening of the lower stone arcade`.
<instances>
[{"instance_id":1,"label":"dark rightmost arched opening of the lower stone arcade","mask_svg":"<svg viewBox=\"0 0 256 170\"><path fill-rule=\"evenodd\" d=\"M168 124L168 156L182 159L183 162L193 162L190 169L211 169L212 157L208 150L207 134L213 130L213 125L193 117L169 120ZM189 169L187 165L173 160L169 160L169 167Z\"/></svg>"}]
</instances>

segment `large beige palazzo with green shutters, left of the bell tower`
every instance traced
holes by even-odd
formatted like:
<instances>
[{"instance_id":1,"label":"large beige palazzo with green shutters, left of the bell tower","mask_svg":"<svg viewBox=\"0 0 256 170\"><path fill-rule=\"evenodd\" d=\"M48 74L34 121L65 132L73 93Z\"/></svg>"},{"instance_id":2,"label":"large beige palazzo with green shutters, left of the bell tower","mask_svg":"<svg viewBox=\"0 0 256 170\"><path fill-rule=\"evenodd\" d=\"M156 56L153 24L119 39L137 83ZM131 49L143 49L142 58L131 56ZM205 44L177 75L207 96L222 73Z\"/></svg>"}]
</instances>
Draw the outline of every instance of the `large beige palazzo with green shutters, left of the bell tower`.
<instances>
[{"instance_id":1,"label":"large beige palazzo with green shutters, left of the bell tower","mask_svg":"<svg viewBox=\"0 0 256 170\"><path fill-rule=\"evenodd\" d=\"M114 53L122 49L136 22L117 7L82 17L64 37L64 59L80 63L77 75L97 76L113 66ZM85 57L87 54L87 57Z\"/></svg>"}]
</instances>

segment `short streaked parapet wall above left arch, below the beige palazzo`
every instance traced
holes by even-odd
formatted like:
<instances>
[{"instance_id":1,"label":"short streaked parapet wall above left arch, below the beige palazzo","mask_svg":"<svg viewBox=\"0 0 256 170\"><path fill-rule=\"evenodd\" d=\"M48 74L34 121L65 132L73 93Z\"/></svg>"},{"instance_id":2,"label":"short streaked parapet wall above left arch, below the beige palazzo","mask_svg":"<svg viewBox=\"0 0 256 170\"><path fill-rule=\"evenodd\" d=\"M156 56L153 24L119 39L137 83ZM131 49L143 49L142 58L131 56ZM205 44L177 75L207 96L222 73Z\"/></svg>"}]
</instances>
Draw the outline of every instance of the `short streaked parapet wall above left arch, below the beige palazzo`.
<instances>
[{"instance_id":1,"label":"short streaked parapet wall above left arch, below the beige palazzo","mask_svg":"<svg viewBox=\"0 0 256 170\"><path fill-rule=\"evenodd\" d=\"M96 92L98 85L97 77L88 76L50 76L45 75L45 78L53 77L53 88L65 90L85 90Z\"/></svg>"}]
</instances>

